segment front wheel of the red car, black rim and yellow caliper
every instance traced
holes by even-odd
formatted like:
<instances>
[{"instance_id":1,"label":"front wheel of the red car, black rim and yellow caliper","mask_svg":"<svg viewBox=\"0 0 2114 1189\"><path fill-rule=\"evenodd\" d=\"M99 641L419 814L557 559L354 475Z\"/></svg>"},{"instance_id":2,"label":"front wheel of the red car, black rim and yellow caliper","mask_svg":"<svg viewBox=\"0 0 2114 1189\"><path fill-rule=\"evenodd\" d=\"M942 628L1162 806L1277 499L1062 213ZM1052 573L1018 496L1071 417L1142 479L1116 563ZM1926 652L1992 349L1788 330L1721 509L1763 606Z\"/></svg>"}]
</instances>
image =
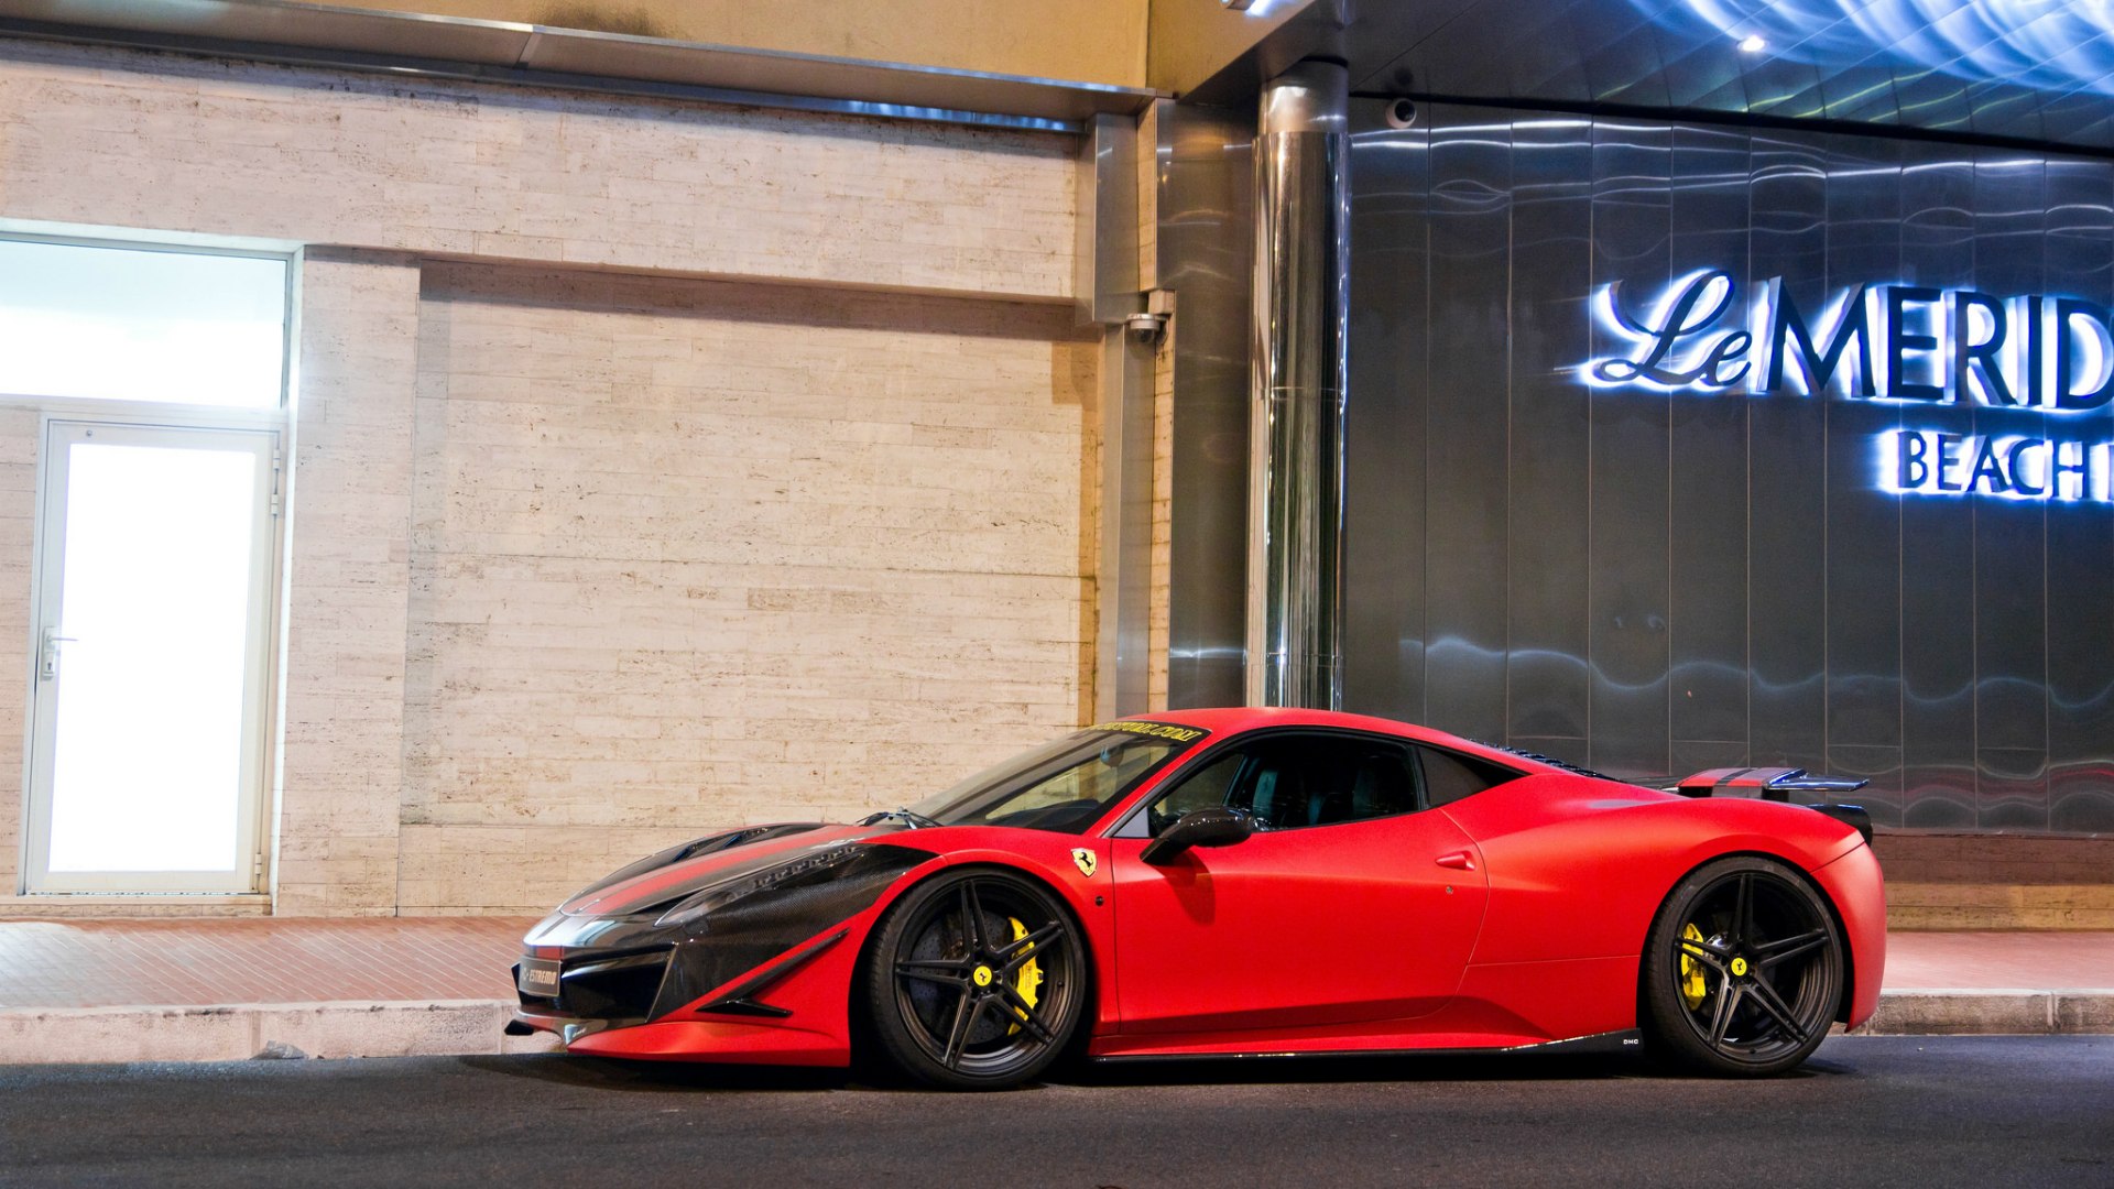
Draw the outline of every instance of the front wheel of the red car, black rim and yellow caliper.
<instances>
[{"instance_id":1,"label":"front wheel of the red car, black rim and yellow caliper","mask_svg":"<svg viewBox=\"0 0 2114 1189\"><path fill-rule=\"evenodd\" d=\"M1087 954L1055 895L991 867L934 876L888 910L867 954L867 1018L915 1081L1006 1090L1072 1045Z\"/></svg>"}]
</instances>

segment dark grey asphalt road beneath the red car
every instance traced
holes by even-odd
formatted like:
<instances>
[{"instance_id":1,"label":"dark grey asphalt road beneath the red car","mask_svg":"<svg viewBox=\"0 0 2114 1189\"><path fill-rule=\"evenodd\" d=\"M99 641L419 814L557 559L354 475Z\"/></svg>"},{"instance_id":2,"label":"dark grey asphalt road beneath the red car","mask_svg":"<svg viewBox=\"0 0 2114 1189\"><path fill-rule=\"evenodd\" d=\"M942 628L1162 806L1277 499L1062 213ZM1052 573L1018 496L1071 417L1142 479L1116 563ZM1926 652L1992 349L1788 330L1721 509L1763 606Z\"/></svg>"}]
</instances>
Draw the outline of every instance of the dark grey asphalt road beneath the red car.
<instances>
[{"instance_id":1,"label":"dark grey asphalt road beneath the red car","mask_svg":"<svg viewBox=\"0 0 2114 1189\"><path fill-rule=\"evenodd\" d=\"M1013 1094L588 1058L0 1066L0 1185L2093 1185L2114 1037L1087 1071Z\"/></svg>"}]
</instances>

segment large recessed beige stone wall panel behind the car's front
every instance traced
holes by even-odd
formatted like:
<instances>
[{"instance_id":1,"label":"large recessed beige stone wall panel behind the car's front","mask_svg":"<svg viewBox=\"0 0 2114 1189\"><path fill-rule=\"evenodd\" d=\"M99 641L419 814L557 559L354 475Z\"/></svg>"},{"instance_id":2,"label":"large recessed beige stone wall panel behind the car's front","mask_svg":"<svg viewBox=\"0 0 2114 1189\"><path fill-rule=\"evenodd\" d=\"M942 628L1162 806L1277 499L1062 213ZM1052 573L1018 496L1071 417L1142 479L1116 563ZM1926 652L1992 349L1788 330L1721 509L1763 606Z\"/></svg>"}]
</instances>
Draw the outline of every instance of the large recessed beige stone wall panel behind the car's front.
<instances>
[{"instance_id":1,"label":"large recessed beige stone wall panel behind the car's front","mask_svg":"<svg viewBox=\"0 0 2114 1189\"><path fill-rule=\"evenodd\" d=\"M421 309L406 910L890 808L1089 713L1068 309L480 267Z\"/></svg>"}]
</instances>

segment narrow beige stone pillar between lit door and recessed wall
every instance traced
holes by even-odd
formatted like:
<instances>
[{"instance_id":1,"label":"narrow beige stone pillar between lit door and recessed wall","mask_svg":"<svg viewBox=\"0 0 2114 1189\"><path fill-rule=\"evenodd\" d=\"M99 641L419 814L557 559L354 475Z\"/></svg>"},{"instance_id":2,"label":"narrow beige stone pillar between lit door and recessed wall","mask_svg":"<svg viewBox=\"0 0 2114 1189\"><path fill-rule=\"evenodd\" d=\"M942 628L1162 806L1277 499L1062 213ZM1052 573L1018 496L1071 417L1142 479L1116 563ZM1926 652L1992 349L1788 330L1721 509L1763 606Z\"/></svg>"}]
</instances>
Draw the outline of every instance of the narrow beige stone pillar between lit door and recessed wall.
<instances>
[{"instance_id":1,"label":"narrow beige stone pillar between lit door and recessed wall","mask_svg":"<svg viewBox=\"0 0 2114 1189\"><path fill-rule=\"evenodd\" d=\"M419 262L309 252L288 489L277 901L397 908Z\"/></svg>"}]
</instances>

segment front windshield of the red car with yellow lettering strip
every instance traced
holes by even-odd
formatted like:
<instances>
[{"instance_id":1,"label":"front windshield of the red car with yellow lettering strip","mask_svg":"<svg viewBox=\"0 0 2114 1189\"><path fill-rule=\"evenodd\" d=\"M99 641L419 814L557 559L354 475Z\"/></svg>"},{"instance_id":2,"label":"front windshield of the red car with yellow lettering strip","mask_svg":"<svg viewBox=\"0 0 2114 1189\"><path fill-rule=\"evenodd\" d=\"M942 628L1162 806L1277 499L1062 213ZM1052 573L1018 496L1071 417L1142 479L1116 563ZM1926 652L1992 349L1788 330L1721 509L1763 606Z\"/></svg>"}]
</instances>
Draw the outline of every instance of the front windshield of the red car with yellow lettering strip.
<instances>
[{"instance_id":1,"label":"front windshield of the red car with yellow lettering strip","mask_svg":"<svg viewBox=\"0 0 2114 1189\"><path fill-rule=\"evenodd\" d=\"M939 825L1078 834L1203 736L1203 730L1167 724L1089 728L977 772L909 806L909 812Z\"/></svg>"}]
</instances>

